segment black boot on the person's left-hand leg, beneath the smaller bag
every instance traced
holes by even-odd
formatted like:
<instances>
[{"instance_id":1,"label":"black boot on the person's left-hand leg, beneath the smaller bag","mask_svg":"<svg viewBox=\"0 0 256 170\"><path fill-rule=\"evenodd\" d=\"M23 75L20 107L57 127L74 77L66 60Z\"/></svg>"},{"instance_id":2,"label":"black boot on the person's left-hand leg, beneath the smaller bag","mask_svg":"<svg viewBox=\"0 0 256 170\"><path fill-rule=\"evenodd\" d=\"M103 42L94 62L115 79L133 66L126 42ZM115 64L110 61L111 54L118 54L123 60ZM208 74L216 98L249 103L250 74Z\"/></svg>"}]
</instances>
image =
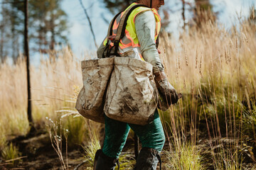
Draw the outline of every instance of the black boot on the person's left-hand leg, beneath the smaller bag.
<instances>
[{"instance_id":1,"label":"black boot on the person's left-hand leg, beneath the smaller bag","mask_svg":"<svg viewBox=\"0 0 256 170\"><path fill-rule=\"evenodd\" d=\"M119 169L118 159L107 157L107 155L102 152L102 149L97 150L95 154L95 170L114 170L114 167L117 165Z\"/></svg>"}]
</instances>

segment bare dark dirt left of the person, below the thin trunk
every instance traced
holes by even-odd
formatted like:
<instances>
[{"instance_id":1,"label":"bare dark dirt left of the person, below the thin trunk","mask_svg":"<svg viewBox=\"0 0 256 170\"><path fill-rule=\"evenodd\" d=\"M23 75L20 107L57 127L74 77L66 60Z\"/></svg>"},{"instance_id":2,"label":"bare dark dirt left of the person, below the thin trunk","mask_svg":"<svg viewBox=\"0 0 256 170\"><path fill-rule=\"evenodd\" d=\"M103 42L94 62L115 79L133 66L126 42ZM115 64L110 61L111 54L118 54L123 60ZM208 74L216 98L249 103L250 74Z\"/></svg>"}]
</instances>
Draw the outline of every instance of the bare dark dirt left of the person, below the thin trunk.
<instances>
[{"instance_id":1,"label":"bare dark dirt left of the person, below the thin trunk","mask_svg":"<svg viewBox=\"0 0 256 170\"><path fill-rule=\"evenodd\" d=\"M19 151L22 153L21 159L14 166L4 165L1 160L0 169L61 169L58 154L53 149L48 134L40 134L28 139L22 139L16 142ZM68 169L74 169L78 164L84 161L82 150L73 149L68 151ZM65 154L65 152L63 152ZM63 158L66 160L65 155ZM79 169L85 169L85 166L80 166Z\"/></svg>"}]
</instances>

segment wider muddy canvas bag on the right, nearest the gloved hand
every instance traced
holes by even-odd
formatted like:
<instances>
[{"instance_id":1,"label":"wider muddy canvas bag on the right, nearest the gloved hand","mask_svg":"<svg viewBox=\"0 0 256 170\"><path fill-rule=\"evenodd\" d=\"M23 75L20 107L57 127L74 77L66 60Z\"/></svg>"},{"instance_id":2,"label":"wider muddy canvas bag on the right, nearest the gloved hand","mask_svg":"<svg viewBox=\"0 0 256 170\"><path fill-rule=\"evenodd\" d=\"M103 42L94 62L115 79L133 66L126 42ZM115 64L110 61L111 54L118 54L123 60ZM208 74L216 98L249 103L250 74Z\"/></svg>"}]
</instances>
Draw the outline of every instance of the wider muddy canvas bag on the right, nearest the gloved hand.
<instances>
[{"instance_id":1,"label":"wider muddy canvas bag on the right, nearest the gloved hand","mask_svg":"<svg viewBox=\"0 0 256 170\"><path fill-rule=\"evenodd\" d=\"M152 65L129 57L114 57L104 111L125 123L146 125L154 120L157 92Z\"/></svg>"}]
</instances>

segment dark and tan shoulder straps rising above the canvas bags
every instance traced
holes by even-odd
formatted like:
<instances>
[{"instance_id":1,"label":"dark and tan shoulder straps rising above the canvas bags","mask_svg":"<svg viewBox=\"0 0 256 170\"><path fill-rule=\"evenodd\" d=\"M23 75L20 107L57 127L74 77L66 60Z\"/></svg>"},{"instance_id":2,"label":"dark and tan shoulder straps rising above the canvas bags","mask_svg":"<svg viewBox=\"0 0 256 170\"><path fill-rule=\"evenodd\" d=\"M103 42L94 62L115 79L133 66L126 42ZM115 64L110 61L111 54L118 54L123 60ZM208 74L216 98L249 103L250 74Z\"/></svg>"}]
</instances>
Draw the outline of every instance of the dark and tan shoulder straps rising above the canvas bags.
<instances>
[{"instance_id":1,"label":"dark and tan shoulder straps rising above the canvas bags","mask_svg":"<svg viewBox=\"0 0 256 170\"><path fill-rule=\"evenodd\" d=\"M102 54L103 58L105 58L104 53L105 53L106 50L107 50L106 57L110 57L110 55L116 55L117 57L120 57L117 50L118 50L118 47L119 47L120 40L124 37L125 28L127 26L127 20L129 18L129 15L132 13L132 11L135 8L138 8L140 6L144 6L144 7L148 8L148 6L145 6L143 4L135 4L134 6L130 6L129 8L127 8L127 10L124 12L121 20L119 21L119 26L117 28L117 35L114 37L114 46L110 48L109 45L108 45L108 42L110 40L110 36L112 36L112 33L113 33L114 21L117 19L117 16L119 16L122 12L119 12L119 13L117 13L116 16L114 16L114 18L112 19L112 21L110 23L110 27L108 29L108 32L107 32L107 45L106 45L106 48L105 48L105 50ZM114 48L114 53L110 53L113 48Z\"/></svg>"}]
</instances>

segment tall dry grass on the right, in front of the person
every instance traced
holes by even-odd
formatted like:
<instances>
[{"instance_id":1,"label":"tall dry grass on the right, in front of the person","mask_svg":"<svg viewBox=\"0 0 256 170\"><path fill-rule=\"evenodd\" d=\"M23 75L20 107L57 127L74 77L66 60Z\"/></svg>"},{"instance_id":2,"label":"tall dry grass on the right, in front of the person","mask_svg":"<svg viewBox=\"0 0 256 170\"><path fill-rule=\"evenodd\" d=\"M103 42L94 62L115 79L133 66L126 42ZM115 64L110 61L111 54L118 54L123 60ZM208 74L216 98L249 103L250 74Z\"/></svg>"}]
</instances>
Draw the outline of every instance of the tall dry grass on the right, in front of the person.
<instances>
[{"instance_id":1,"label":"tall dry grass on the right, in front of the person","mask_svg":"<svg viewBox=\"0 0 256 170\"><path fill-rule=\"evenodd\" d=\"M178 41L164 33L161 45L169 81L183 94L177 106L161 113L169 152L176 153L167 167L188 167L187 152L201 153L207 169L244 169L255 162L255 23L225 30L207 22ZM248 145L254 145L250 151Z\"/></svg>"}]
</instances>

